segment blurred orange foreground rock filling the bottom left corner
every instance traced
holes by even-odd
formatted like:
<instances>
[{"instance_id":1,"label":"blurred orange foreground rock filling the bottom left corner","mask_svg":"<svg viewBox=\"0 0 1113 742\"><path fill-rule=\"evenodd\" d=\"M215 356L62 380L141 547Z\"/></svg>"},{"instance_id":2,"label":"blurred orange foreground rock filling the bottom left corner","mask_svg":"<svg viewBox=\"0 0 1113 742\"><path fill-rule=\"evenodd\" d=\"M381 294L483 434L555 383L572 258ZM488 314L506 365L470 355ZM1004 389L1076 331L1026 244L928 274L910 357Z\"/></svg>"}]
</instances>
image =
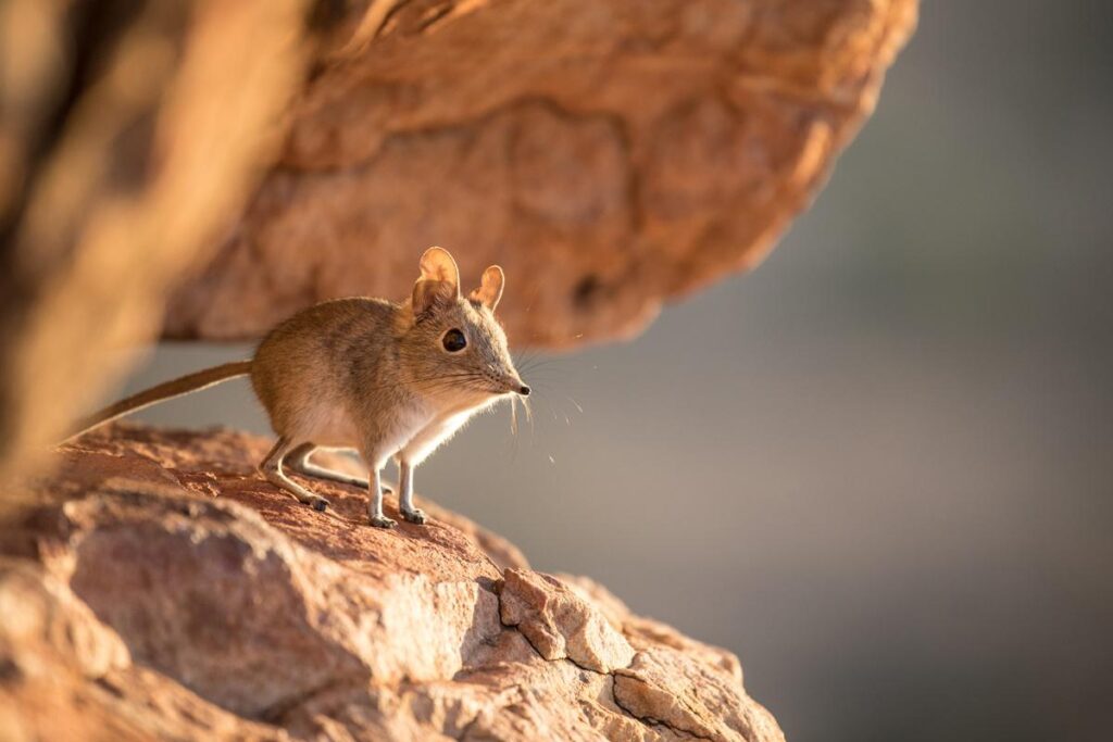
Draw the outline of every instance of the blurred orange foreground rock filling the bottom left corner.
<instances>
[{"instance_id":1,"label":"blurred orange foreground rock filling the bottom left corner","mask_svg":"<svg viewBox=\"0 0 1113 742\"><path fill-rule=\"evenodd\" d=\"M140 664L57 576L0 558L0 739L286 740Z\"/></svg>"}]
</instances>

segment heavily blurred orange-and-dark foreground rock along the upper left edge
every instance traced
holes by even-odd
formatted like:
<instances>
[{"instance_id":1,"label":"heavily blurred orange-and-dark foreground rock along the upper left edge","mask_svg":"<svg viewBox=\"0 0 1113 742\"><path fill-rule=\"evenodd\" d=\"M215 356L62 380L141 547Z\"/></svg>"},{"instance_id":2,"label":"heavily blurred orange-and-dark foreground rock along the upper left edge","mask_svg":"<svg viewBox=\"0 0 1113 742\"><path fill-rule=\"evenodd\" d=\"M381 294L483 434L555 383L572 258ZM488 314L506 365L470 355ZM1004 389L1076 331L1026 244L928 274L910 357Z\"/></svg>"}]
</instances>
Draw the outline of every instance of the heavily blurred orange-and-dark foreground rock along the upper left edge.
<instances>
[{"instance_id":1,"label":"heavily blurred orange-and-dark foreground rock along the upper left edge","mask_svg":"<svg viewBox=\"0 0 1113 742\"><path fill-rule=\"evenodd\" d=\"M2 3L0 477L126 373L239 214L302 79L304 6Z\"/></svg>"}]
</instances>

